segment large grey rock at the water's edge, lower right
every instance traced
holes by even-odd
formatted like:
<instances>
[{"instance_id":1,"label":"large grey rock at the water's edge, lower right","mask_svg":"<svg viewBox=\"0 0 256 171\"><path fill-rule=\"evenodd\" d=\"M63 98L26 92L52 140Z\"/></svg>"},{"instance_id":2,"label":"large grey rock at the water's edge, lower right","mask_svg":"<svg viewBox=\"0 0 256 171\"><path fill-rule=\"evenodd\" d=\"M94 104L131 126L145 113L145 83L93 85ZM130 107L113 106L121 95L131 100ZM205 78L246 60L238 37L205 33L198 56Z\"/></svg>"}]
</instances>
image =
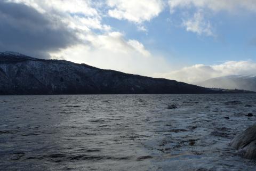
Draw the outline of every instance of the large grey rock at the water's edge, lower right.
<instances>
[{"instance_id":1,"label":"large grey rock at the water's edge, lower right","mask_svg":"<svg viewBox=\"0 0 256 171\"><path fill-rule=\"evenodd\" d=\"M238 149L245 149L244 157L247 159L256 159L256 124L247 128L241 134L238 134L230 143Z\"/></svg>"}]
</instances>

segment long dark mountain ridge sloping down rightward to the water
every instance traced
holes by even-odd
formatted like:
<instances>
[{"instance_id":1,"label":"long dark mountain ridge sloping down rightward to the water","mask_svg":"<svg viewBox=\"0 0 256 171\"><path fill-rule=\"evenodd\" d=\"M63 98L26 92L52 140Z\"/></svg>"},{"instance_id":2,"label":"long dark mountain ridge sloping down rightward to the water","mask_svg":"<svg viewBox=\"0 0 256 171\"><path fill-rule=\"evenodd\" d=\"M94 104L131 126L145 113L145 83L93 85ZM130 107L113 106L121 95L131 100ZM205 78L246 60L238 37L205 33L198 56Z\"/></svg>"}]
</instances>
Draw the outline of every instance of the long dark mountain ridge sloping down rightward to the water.
<instances>
[{"instance_id":1,"label":"long dark mountain ridge sloping down rightward to the water","mask_svg":"<svg viewBox=\"0 0 256 171\"><path fill-rule=\"evenodd\" d=\"M211 86L212 87L212 86ZM103 70L65 60L0 53L0 94L247 93Z\"/></svg>"}]
</instances>

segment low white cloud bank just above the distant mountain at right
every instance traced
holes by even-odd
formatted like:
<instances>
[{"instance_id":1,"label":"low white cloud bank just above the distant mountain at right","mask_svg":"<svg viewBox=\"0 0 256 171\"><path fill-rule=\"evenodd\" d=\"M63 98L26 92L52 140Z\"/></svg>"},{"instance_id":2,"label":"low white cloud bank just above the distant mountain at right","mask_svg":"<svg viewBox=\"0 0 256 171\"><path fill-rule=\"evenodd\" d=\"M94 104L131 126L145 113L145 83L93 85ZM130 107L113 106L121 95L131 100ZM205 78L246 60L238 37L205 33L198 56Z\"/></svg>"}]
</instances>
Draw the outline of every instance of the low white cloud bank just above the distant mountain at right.
<instances>
[{"instance_id":1,"label":"low white cloud bank just above the distant mountain at right","mask_svg":"<svg viewBox=\"0 0 256 171\"><path fill-rule=\"evenodd\" d=\"M256 73L256 63L250 61L228 61L222 64L205 66L204 64L195 64L180 70L169 73L156 74L155 77L175 79L186 83L198 83L204 80L229 76L229 75L247 75Z\"/></svg>"}]
</instances>

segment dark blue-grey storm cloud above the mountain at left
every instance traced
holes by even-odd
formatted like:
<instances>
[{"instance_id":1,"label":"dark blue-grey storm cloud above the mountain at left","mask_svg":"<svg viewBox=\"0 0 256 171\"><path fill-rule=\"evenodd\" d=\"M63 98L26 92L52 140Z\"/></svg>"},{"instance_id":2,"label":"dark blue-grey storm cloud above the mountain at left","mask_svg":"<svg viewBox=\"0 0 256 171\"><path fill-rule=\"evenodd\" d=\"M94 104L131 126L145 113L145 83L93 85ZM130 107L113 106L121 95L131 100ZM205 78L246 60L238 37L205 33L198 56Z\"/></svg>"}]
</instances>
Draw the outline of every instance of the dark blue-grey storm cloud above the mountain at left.
<instances>
[{"instance_id":1,"label":"dark blue-grey storm cloud above the mountain at left","mask_svg":"<svg viewBox=\"0 0 256 171\"><path fill-rule=\"evenodd\" d=\"M0 2L0 52L49 58L48 52L78 42L74 30L51 15L23 4Z\"/></svg>"}]
</instances>

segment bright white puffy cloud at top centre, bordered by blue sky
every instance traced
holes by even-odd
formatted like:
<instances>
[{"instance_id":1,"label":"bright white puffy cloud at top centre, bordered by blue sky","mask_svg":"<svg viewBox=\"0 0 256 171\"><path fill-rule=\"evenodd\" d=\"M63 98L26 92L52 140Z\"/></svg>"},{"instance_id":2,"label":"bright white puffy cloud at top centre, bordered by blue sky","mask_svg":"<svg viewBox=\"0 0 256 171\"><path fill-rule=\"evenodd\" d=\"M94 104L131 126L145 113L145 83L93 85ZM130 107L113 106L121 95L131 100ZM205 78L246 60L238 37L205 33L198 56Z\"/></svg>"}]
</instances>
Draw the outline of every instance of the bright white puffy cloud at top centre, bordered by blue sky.
<instances>
[{"instance_id":1,"label":"bright white puffy cloud at top centre, bordered by blue sky","mask_svg":"<svg viewBox=\"0 0 256 171\"><path fill-rule=\"evenodd\" d=\"M108 11L110 17L135 23L149 21L157 17L164 7L161 0L108 0L107 4L111 7Z\"/></svg>"}]
</instances>

